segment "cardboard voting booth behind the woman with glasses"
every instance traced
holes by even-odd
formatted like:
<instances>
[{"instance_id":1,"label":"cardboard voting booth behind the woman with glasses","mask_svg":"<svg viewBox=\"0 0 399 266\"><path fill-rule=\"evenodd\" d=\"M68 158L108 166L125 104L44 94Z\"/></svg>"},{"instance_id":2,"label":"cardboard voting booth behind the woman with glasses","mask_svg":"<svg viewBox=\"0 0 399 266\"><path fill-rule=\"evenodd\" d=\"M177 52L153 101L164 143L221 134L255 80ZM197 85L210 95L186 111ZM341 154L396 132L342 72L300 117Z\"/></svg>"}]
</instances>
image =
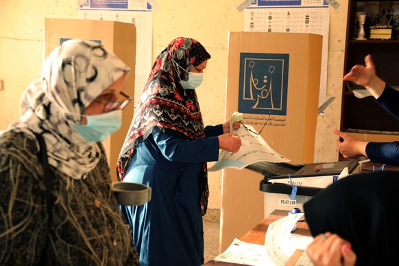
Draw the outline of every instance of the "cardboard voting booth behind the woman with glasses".
<instances>
[{"instance_id":1,"label":"cardboard voting booth behind the woman with glasses","mask_svg":"<svg viewBox=\"0 0 399 266\"><path fill-rule=\"evenodd\" d=\"M45 57L63 41L71 38L93 40L101 43L130 67L125 80L125 93L134 97L134 72L136 66L136 27L134 24L118 21L88 21L81 19L45 19ZM132 101L134 102L134 100ZM111 177L117 181L117 160L125 141L134 105L123 109L121 128L104 141L110 164Z\"/></svg>"}]
</instances>

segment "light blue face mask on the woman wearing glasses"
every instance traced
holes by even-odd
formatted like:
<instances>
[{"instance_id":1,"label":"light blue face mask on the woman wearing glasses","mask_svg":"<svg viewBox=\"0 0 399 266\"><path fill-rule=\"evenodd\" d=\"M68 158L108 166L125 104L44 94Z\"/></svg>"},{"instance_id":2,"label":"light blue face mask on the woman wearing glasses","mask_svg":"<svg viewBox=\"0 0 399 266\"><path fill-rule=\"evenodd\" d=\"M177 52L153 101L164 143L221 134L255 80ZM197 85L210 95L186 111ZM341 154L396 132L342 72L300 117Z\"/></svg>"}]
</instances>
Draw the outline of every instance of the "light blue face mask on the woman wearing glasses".
<instances>
[{"instance_id":1,"label":"light blue face mask on the woman wearing glasses","mask_svg":"<svg viewBox=\"0 0 399 266\"><path fill-rule=\"evenodd\" d=\"M86 116L86 125L75 125L75 131L87 142L104 141L122 125L122 110Z\"/></svg>"}]
</instances>

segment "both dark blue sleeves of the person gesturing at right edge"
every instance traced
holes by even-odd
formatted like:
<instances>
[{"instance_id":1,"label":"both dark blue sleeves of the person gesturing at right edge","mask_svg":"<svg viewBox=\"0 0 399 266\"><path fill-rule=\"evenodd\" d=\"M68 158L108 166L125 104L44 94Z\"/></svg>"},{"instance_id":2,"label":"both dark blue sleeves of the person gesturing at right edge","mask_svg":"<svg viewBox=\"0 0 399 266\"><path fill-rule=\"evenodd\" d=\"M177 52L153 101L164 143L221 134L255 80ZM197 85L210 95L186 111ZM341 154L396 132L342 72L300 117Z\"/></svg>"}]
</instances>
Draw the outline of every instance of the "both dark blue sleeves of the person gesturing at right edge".
<instances>
[{"instance_id":1,"label":"both dark blue sleeves of the person gesturing at right edge","mask_svg":"<svg viewBox=\"0 0 399 266\"><path fill-rule=\"evenodd\" d=\"M399 91L385 86L384 92L376 102L380 104L389 114L399 119ZM399 142L376 143L370 142L366 146L367 157L372 162L399 166Z\"/></svg>"}]
</instances>

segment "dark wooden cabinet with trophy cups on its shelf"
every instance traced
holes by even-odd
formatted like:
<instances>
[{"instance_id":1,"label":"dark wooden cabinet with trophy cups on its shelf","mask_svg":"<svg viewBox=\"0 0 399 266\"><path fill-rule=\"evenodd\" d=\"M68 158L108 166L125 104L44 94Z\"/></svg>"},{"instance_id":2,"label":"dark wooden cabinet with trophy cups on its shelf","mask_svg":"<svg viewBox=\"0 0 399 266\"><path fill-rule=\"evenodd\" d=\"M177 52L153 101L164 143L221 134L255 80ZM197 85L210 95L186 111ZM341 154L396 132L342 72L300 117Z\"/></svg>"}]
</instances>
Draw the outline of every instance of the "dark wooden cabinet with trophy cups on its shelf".
<instances>
[{"instance_id":1,"label":"dark wooden cabinet with trophy cups on its shelf","mask_svg":"<svg viewBox=\"0 0 399 266\"><path fill-rule=\"evenodd\" d=\"M367 14L365 37L368 38L370 25L373 25L371 20L382 10L391 10L391 13L399 15L399 1L349 0L343 75L355 64L364 64L365 56L370 53L377 74L391 86L399 87L399 36L396 36L395 26L393 38L389 40L355 39L359 28L356 14ZM352 84L343 82L341 131L364 141L399 141L399 121L376 104L373 97L358 99L348 87L351 88Z\"/></svg>"}]
</instances>

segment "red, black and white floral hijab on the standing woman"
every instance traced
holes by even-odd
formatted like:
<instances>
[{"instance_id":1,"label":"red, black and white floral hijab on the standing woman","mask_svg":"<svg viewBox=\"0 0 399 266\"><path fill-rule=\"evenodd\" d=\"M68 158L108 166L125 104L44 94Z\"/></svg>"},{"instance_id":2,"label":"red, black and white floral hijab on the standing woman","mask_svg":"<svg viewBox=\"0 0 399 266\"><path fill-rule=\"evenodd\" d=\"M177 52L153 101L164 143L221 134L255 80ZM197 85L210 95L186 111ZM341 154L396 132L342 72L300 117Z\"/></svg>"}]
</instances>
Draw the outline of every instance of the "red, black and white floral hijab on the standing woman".
<instances>
[{"instance_id":1,"label":"red, black and white floral hijab on the standing woman","mask_svg":"<svg viewBox=\"0 0 399 266\"><path fill-rule=\"evenodd\" d=\"M180 80L210 58L206 49L192 38L179 37L156 58L136 108L128 135L119 154L117 175L123 180L134 146L144 141L156 128L176 136L198 139L204 135L204 123L195 90L184 90ZM185 71L184 71L185 70ZM208 199L206 163L202 175L202 210Z\"/></svg>"}]
</instances>

